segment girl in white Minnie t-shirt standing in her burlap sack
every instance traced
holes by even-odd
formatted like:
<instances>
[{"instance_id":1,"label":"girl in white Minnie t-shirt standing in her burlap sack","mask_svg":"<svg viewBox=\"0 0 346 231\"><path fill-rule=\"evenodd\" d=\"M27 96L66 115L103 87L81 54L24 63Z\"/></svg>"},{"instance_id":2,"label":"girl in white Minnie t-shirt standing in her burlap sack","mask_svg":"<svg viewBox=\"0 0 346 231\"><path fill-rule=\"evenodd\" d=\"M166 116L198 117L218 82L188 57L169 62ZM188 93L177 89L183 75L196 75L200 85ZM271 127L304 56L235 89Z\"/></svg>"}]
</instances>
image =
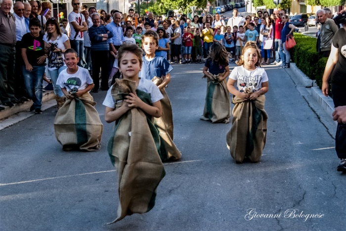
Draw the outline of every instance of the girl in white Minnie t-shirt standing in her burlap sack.
<instances>
[{"instance_id":1,"label":"girl in white Minnie t-shirt standing in her burlap sack","mask_svg":"<svg viewBox=\"0 0 346 231\"><path fill-rule=\"evenodd\" d=\"M264 111L264 94L269 83L265 70L259 66L261 59L256 43L247 42L238 67L233 69L227 82L234 108L226 141L237 163L245 158L259 162L266 141L268 117Z\"/></svg>"}]
</instances>

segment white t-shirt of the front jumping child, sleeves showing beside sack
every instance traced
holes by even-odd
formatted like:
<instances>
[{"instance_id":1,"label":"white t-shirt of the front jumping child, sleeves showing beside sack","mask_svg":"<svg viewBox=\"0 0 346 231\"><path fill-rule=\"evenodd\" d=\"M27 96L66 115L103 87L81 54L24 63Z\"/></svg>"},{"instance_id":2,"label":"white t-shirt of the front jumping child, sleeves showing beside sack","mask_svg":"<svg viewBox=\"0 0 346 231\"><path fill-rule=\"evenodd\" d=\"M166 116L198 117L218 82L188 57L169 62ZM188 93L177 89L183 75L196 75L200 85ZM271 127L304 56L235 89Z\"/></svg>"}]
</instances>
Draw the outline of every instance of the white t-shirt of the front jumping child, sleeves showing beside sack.
<instances>
[{"instance_id":1,"label":"white t-shirt of the front jumping child, sleeves showing beside sack","mask_svg":"<svg viewBox=\"0 0 346 231\"><path fill-rule=\"evenodd\" d=\"M103 101L103 105L108 108L115 108L115 102L112 97L112 88L113 86L108 89L106 98ZM149 79L139 78L137 89L149 93L152 103L155 103L164 98L159 88L155 85L155 83L153 83L153 81Z\"/></svg>"}]
</instances>

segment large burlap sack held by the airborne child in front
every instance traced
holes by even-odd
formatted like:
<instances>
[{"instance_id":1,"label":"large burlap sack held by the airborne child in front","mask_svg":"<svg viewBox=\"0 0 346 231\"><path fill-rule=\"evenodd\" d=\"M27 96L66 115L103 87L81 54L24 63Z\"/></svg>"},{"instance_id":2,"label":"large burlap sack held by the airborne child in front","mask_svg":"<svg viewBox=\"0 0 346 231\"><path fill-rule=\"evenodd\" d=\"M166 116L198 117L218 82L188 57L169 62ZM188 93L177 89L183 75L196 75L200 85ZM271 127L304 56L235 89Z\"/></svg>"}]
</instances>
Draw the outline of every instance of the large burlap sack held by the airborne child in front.
<instances>
[{"instance_id":1,"label":"large burlap sack held by the airborne child in front","mask_svg":"<svg viewBox=\"0 0 346 231\"><path fill-rule=\"evenodd\" d=\"M134 81L116 79L112 87L116 109L130 92L136 92L143 102L151 105L150 94L136 90ZM142 110L132 108L115 122L108 143L108 154L119 174L118 217L114 222L154 207L157 187L166 174L159 149L159 133Z\"/></svg>"}]
</instances>

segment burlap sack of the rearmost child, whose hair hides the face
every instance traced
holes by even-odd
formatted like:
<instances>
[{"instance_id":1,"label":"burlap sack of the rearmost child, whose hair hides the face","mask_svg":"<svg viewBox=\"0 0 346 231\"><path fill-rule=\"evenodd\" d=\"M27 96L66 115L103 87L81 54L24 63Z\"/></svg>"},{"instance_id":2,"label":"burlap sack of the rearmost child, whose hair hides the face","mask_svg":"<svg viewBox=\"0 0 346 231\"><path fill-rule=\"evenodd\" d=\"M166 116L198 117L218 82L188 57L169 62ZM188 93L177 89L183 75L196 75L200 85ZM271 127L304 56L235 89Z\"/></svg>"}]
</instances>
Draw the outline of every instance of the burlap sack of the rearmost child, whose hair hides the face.
<instances>
[{"instance_id":1,"label":"burlap sack of the rearmost child, whose hair hides the face","mask_svg":"<svg viewBox=\"0 0 346 231\"><path fill-rule=\"evenodd\" d=\"M218 78L222 77L224 73L213 75L212 78L207 78L207 95L206 103L204 106L202 120L212 121L212 123L229 123L231 117L231 100L229 99L229 92L227 90L227 80L219 81Z\"/></svg>"}]
</instances>

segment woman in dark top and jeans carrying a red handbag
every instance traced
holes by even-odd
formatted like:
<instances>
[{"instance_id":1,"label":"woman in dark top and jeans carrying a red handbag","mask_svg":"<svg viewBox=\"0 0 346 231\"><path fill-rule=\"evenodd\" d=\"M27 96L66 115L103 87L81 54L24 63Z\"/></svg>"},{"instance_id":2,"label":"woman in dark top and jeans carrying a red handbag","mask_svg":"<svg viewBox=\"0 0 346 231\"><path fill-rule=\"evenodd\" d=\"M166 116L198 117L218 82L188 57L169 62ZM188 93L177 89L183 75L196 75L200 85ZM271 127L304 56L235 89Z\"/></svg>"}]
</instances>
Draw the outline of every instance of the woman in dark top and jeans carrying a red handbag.
<instances>
[{"instance_id":1,"label":"woman in dark top and jeans carrying a red handbag","mask_svg":"<svg viewBox=\"0 0 346 231\"><path fill-rule=\"evenodd\" d=\"M280 40L280 47L279 47L279 54L282 60L282 64L279 65L279 67L289 68L291 54L290 54L290 50L287 49L286 42L287 42L287 39L293 37L293 32L296 30L296 27L293 26L292 23L289 22L287 15L282 15L282 23L284 24L284 28L281 31L281 40Z\"/></svg>"}]
</instances>

